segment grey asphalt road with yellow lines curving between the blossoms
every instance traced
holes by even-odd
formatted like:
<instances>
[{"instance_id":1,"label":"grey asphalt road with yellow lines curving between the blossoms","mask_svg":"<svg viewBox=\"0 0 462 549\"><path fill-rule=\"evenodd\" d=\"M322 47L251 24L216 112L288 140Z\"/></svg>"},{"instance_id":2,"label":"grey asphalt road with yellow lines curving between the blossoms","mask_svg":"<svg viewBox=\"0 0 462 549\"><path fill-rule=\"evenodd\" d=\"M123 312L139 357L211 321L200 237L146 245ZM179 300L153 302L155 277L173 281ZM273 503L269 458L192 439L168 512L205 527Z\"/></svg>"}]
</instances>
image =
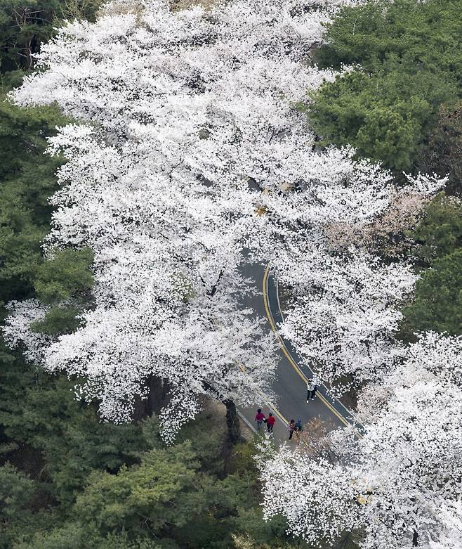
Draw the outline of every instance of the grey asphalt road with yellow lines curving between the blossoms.
<instances>
[{"instance_id":1,"label":"grey asphalt road with yellow lines curving between the blossoms","mask_svg":"<svg viewBox=\"0 0 462 549\"><path fill-rule=\"evenodd\" d=\"M339 401L332 399L323 386L320 387L315 401L306 402L306 381L313 373L307 366L300 366L301 361L295 349L277 334L277 327L282 322L277 282L270 269L263 269L259 265L247 266L244 275L252 278L260 290L258 295L246 298L244 304L251 306L258 316L268 319L268 330L275 333L279 344L279 365L272 385L277 400L262 402L260 406L266 416L272 412L277 418L275 439L284 441L289 438L286 425L292 418L296 421L300 418L303 424L312 418L320 418L332 428L352 423L348 410ZM248 425L256 427L256 408L241 408L240 413ZM360 426L357 428L360 431Z\"/></svg>"}]
</instances>

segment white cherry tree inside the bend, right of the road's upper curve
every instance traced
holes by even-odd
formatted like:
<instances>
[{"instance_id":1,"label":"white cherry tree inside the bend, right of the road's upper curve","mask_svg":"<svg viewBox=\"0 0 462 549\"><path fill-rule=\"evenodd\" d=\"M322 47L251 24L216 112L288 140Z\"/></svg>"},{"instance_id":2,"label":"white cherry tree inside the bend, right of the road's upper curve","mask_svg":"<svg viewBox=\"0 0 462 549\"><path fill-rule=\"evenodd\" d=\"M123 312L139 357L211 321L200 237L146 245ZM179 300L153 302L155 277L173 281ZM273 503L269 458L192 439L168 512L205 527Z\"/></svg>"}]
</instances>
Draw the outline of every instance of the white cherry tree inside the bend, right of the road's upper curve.
<instances>
[{"instance_id":1,"label":"white cherry tree inside the bend, right of the road's upper curve","mask_svg":"<svg viewBox=\"0 0 462 549\"><path fill-rule=\"evenodd\" d=\"M352 162L348 150L318 156L305 166L301 190L284 201L267 193L267 232L256 238L291 295L282 335L341 394L377 380L402 354L394 340L399 308L417 276L409 261L384 256L379 244L384 234L401 236L410 228L444 181L419 176L397 190L390 174ZM397 226L393 209L409 202L413 214ZM279 244L273 250L270 241L261 242L268 234Z\"/></svg>"}]
</instances>

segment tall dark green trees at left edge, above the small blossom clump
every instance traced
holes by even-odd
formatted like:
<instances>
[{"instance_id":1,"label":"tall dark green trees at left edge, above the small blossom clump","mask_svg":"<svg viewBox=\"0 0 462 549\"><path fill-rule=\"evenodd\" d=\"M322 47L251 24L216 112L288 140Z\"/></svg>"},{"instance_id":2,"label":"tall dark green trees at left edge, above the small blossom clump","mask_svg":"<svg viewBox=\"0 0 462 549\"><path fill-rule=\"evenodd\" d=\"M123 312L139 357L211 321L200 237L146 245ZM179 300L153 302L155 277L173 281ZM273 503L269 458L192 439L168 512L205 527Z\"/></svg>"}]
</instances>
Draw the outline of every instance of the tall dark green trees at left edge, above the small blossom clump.
<instances>
[{"instance_id":1,"label":"tall dark green trees at left edge, above the small blossom clump","mask_svg":"<svg viewBox=\"0 0 462 549\"><path fill-rule=\"evenodd\" d=\"M53 108L20 109L0 94L0 299L23 299L34 292L49 231L48 198L58 188L54 173L62 163L44 155L46 138L65 119Z\"/></svg>"}]
</instances>

